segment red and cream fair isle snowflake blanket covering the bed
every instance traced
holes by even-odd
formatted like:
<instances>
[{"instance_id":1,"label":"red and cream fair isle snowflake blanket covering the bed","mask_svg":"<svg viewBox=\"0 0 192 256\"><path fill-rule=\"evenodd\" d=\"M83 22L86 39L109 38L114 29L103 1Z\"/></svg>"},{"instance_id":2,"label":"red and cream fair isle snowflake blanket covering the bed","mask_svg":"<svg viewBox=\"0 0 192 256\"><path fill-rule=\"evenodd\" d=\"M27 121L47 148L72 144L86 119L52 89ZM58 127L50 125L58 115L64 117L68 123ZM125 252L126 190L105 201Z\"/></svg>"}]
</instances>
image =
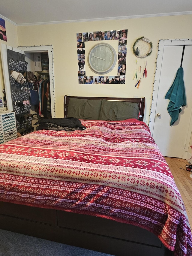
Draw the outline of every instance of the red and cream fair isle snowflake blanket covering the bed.
<instances>
[{"instance_id":1,"label":"red and cream fair isle snowflake blanket covering the bed","mask_svg":"<svg viewBox=\"0 0 192 256\"><path fill-rule=\"evenodd\" d=\"M0 145L0 200L100 216L151 231L175 255L192 235L173 175L144 122L85 121Z\"/></svg>"}]
</instances>

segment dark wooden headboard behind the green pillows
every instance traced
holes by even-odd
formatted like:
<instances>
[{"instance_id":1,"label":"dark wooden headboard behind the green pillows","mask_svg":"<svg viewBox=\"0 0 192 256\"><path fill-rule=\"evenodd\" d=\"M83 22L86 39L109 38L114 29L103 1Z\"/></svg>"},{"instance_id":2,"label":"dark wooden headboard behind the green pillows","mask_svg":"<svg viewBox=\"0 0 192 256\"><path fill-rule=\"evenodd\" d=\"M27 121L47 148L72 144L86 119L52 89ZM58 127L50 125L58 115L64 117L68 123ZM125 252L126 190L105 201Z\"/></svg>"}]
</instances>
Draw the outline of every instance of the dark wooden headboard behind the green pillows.
<instances>
[{"instance_id":1,"label":"dark wooden headboard behind the green pillows","mask_svg":"<svg viewBox=\"0 0 192 256\"><path fill-rule=\"evenodd\" d=\"M67 117L67 107L70 98L77 99L88 99L88 100L108 100L108 101L125 101L125 102L139 102L140 108L140 121L143 121L144 110L145 110L145 97L143 98L110 98L110 97L79 97L79 96L64 96L64 117Z\"/></svg>"}]
</instances>

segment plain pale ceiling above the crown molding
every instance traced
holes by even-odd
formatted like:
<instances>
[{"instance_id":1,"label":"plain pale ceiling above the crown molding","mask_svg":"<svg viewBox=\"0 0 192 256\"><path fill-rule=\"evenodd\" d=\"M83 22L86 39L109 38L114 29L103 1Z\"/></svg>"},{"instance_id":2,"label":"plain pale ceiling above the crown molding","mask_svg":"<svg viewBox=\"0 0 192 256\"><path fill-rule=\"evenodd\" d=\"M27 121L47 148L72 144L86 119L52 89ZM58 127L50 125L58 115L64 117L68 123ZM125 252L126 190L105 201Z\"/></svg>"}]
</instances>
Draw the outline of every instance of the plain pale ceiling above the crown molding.
<instances>
[{"instance_id":1,"label":"plain pale ceiling above the crown molding","mask_svg":"<svg viewBox=\"0 0 192 256\"><path fill-rule=\"evenodd\" d=\"M17 26L192 14L192 0L0 0L0 17Z\"/></svg>"}]
</instances>

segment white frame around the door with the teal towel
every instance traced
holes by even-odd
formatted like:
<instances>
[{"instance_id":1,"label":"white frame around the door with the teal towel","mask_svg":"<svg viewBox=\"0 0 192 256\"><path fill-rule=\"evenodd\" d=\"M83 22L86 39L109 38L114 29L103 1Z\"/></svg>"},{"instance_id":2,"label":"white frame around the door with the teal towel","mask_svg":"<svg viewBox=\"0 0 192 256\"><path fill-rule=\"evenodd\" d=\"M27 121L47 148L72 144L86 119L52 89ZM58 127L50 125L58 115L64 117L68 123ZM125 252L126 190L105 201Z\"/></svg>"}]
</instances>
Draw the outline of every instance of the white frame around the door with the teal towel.
<instances>
[{"instance_id":1,"label":"white frame around the door with the teal towel","mask_svg":"<svg viewBox=\"0 0 192 256\"><path fill-rule=\"evenodd\" d=\"M157 107L157 99L158 99L158 91L159 91L159 83L160 83L160 76L161 76L161 68L162 68L162 61L163 61L163 54L164 54L164 47L165 46L183 46L183 45L192 45L192 39L167 39L167 40L159 40L158 44L158 57L156 62L156 72L155 72L155 81L154 81L154 90L152 95L152 106L151 106L151 114L150 114L150 122L149 122L149 129L153 136L154 131L154 124L155 124L155 115L156 115L156 107ZM190 137L192 133L192 111L190 115L190 122L188 126L187 136L185 139L185 147L183 150L183 159L188 159L190 154L188 153Z\"/></svg>"}]
</instances>

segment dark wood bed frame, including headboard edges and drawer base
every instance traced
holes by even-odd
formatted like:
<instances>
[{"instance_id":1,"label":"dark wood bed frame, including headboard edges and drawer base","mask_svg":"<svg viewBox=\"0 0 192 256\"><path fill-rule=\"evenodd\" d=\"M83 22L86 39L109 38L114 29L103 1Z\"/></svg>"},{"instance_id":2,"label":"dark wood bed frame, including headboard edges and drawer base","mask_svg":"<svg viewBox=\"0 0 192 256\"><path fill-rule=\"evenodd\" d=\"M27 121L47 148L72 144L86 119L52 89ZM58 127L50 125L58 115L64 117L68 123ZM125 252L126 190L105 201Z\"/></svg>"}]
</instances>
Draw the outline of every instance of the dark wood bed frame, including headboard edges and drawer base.
<instances>
[{"instance_id":1,"label":"dark wood bed frame, including headboard edges and drawer base","mask_svg":"<svg viewBox=\"0 0 192 256\"><path fill-rule=\"evenodd\" d=\"M67 96L64 98L65 115L67 115L69 98ZM104 99L131 102L141 100L139 98ZM141 110L144 111L145 98L142 99L142 105ZM143 112L141 115L143 116ZM118 256L172 255L157 236L140 227L55 209L0 202L0 228Z\"/></svg>"}]
</instances>

